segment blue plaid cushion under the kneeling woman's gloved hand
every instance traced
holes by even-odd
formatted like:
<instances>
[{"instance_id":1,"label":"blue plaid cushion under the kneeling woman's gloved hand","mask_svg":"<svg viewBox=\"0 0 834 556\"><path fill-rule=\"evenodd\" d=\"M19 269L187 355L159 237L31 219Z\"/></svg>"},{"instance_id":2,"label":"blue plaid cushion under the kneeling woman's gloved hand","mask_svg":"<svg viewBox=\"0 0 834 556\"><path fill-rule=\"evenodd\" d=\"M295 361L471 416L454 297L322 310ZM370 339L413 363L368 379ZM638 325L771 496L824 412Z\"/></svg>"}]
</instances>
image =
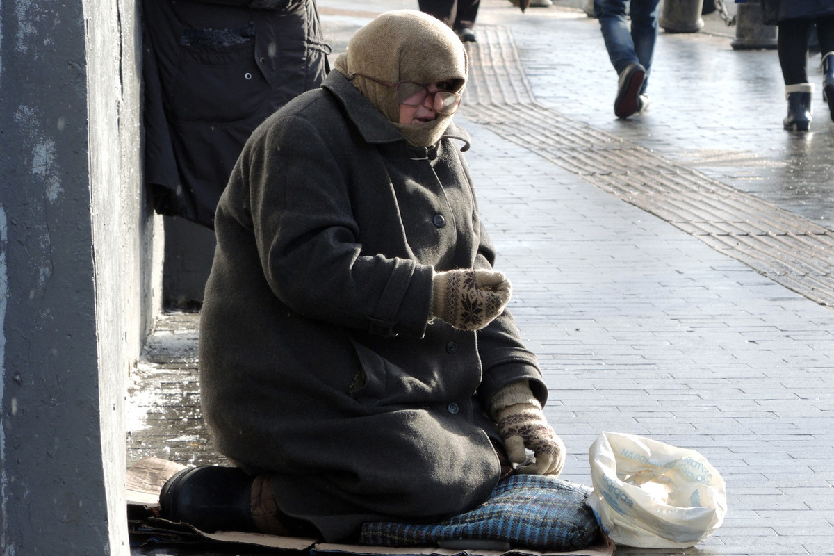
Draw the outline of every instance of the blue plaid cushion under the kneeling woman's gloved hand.
<instances>
[{"instance_id":1,"label":"blue plaid cushion under the kneeling woman's gloved hand","mask_svg":"<svg viewBox=\"0 0 834 556\"><path fill-rule=\"evenodd\" d=\"M479 507L441 523L365 523L360 543L406 547L490 540L516 548L579 550L600 540L594 513L585 505L590 491L546 475L514 475L498 483Z\"/></svg>"}]
</instances>

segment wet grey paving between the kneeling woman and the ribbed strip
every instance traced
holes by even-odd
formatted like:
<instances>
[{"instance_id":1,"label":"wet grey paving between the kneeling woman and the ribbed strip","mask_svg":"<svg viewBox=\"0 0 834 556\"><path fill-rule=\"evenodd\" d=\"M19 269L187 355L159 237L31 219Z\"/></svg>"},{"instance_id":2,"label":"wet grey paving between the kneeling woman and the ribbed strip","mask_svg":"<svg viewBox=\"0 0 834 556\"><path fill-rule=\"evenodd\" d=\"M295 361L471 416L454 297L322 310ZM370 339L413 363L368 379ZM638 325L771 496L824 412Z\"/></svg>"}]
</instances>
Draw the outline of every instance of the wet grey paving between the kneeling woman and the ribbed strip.
<instances>
[{"instance_id":1,"label":"wet grey paving between the kneeling woman and the ribbed strip","mask_svg":"<svg viewBox=\"0 0 834 556\"><path fill-rule=\"evenodd\" d=\"M701 553L834 553L831 309L470 129L511 309L571 453L565 477L589 483L603 430L696 448L730 507Z\"/></svg>"}]
</instances>

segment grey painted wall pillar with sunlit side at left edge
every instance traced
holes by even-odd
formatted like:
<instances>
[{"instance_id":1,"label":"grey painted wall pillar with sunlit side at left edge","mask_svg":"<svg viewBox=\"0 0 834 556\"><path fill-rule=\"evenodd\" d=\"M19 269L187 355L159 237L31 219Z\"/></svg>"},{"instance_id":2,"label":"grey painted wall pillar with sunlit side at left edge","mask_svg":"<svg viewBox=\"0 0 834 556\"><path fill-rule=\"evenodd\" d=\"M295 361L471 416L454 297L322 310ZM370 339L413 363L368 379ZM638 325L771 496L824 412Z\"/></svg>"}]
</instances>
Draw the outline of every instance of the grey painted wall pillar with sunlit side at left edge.
<instances>
[{"instance_id":1,"label":"grey painted wall pillar with sunlit side at left edge","mask_svg":"<svg viewBox=\"0 0 834 556\"><path fill-rule=\"evenodd\" d=\"M130 0L0 3L0 553L129 553L125 378L161 276L136 29Z\"/></svg>"}]
</instances>

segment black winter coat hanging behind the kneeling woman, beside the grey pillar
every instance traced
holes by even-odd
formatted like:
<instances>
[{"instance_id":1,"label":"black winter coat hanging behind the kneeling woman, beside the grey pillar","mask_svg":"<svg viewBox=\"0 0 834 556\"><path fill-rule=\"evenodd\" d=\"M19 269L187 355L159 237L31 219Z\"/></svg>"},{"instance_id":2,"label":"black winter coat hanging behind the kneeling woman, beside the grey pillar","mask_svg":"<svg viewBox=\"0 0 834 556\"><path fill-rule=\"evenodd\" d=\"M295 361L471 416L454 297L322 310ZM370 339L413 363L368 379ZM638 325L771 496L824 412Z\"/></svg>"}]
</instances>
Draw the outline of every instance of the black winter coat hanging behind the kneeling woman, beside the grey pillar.
<instances>
[{"instance_id":1,"label":"black winter coat hanging behind the kneeling woman, beside the grey pillar","mask_svg":"<svg viewBox=\"0 0 834 556\"><path fill-rule=\"evenodd\" d=\"M329 50L313 0L225 3L143 6L145 183L158 213L209 228L246 139L319 87Z\"/></svg>"}]
</instances>

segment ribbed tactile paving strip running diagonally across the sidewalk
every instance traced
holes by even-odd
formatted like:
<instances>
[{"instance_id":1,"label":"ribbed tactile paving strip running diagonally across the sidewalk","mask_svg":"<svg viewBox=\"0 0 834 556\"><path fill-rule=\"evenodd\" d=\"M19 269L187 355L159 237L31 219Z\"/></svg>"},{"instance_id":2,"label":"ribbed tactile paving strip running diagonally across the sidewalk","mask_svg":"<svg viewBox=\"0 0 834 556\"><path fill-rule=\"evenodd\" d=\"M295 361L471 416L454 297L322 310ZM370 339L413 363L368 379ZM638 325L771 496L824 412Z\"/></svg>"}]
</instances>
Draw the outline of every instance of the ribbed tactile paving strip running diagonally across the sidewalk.
<instances>
[{"instance_id":1,"label":"ribbed tactile paving strip running diagonally across the sidewalk","mask_svg":"<svg viewBox=\"0 0 834 556\"><path fill-rule=\"evenodd\" d=\"M466 47L466 118L834 306L831 230L537 103L509 28L480 26L478 43Z\"/></svg>"}]
</instances>

